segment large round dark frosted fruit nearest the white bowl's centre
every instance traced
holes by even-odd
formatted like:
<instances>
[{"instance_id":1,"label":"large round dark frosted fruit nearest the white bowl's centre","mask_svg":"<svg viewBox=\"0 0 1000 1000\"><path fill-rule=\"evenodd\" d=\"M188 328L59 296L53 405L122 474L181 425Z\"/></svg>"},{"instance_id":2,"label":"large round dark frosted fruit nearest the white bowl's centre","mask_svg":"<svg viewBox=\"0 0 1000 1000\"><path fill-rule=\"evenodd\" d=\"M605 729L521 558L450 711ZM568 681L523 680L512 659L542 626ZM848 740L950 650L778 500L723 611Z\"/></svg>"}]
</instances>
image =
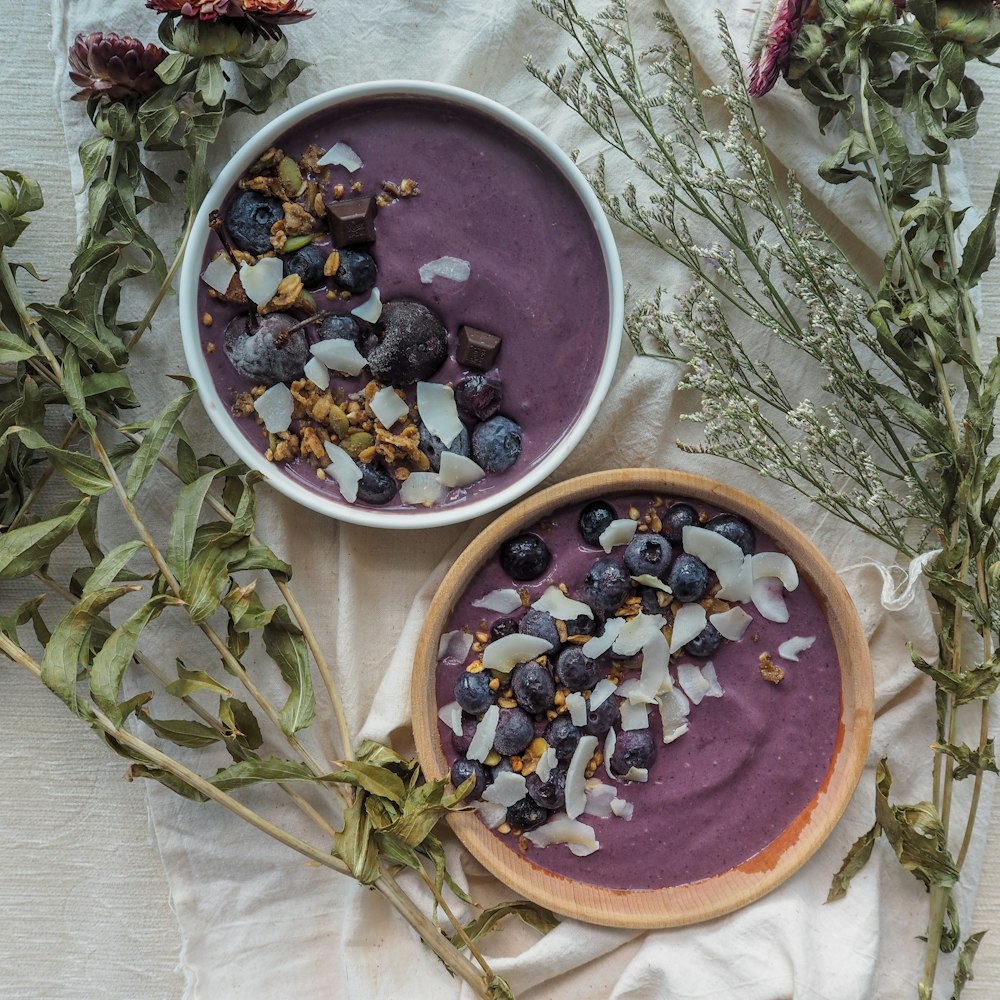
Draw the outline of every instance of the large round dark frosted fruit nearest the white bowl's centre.
<instances>
[{"instance_id":1,"label":"large round dark frosted fruit nearest the white bowl's centre","mask_svg":"<svg viewBox=\"0 0 1000 1000\"><path fill-rule=\"evenodd\" d=\"M368 366L383 385L412 385L428 379L448 359L448 331L420 302L386 302L376 332L380 340L368 355Z\"/></svg>"}]
</instances>

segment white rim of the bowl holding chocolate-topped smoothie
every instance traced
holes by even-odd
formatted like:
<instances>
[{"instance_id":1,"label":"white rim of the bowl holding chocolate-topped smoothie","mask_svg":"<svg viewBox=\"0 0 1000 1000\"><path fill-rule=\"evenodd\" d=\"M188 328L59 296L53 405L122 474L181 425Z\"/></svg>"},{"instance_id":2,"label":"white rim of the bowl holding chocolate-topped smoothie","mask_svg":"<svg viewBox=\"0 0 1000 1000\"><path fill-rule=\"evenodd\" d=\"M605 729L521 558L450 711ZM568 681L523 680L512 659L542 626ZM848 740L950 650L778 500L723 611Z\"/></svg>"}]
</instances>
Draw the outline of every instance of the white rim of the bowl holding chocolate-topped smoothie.
<instances>
[{"instance_id":1,"label":"white rim of the bowl holding chocolate-topped smoothie","mask_svg":"<svg viewBox=\"0 0 1000 1000\"><path fill-rule=\"evenodd\" d=\"M229 407L219 395L201 347L201 332L198 324L201 264L210 232L208 215L212 206L221 202L221 199L263 150L271 146L281 133L292 128L298 122L316 112L334 108L359 98L387 97L393 94L407 97L438 98L485 112L529 140L544 153L569 181L583 202L591 224L597 233L604 256L609 294L607 343L594 390L573 425L552 446L551 451L523 476L501 490L468 503L456 503L446 507L429 507L412 513L386 511L378 507L356 507L339 497L327 499L305 486L298 485L290 476L282 472L280 467L273 462L268 462L236 426L236 421L230 413ZM624 299L624 280L621 262L618 258L618 248L600 202L576 164L544 132L502 104L470 90L424 80L382 80L376 83L359 83L338 87L335 90L311 97L280 114L274 121L254 133L240 147L219 173L198 211L194 230L181 266L179 305L184 355L191 375L198 383L198 395L202 405L215 429L242 462L262 473L267 482L280 493L310 510L336 518L339 521L375 528L436 528L470 521L482 514L513 503L534 489L569 457L596 417L611 385L621 347L625 314Z\"/></svg>"}]
</instances>

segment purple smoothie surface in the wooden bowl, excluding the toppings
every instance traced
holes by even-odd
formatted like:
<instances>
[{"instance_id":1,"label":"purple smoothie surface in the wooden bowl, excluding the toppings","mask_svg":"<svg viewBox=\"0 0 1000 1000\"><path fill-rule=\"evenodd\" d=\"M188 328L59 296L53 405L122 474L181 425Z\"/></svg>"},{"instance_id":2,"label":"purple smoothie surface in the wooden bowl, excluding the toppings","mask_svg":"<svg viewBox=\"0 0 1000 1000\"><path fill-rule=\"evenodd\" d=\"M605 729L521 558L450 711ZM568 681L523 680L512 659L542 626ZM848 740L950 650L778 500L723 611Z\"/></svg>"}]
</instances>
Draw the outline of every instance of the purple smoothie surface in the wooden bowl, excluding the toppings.
<instances>
[{"instance_id":1,"label":"purple smoothie surface in the wooden bowl, excluding the toppings","mask_svg":"<svg viewBox=\"0 0 1000 1000\"><path fill-rule=\"evenodd\" d=\"M638 494L607 499L620 516L633 504L644 512L652 500ZM668 505L670 502L674 500L668 500ZM696 501L687 502L709 516L718 513ZM605 553L587 545L579 534L577 518L582 506L561 508L529 529L538 533L552 552L552 562L542 579L512 583L494 555L472 578L445 631L488 631L497 618L505 616L474 608L472 601L500 588L526 587L534 601L550 584L565 583L570 597L583 600L584 577L594 560ZM774 550L773 541L758 529L755 551ZM622 551L613 549L612 556L620 560ZM725 642L710 657L725 693L691 706L686 734L664 745L659 712L653 706L649 728L658 754L648 782L614 782L618 794L633 804L633 818L578 817L593 826L600 850L576 857L562 844L519 846L512 835L494 835L512 849L525 851L541 868L613 889L659 889L696 882L744 864L763 851L794 825L823 786L836 749L841 715L840 668L820 604L805 579L784 597L789 611L786 624L767 621L752 604L744 605L753 616L744 637ZM792 636L816 637L797 663L778 656L780 643ZM778 684L761 677L758 658L765 651L785 670ZM481 654L470 652L462 663L448 658L439 662L439 706L454 699L457 677L477 655ZM675 685L674 665L678 661L704 663L675 654L671 658ZM539 734L543 728L544 724L536 726ZM442 722L438 732L450 766L458 756L452 732ZM598 749L602 745L603 738ZM595 777L612 784L603 765Z\"/></svg>"}]
</instances>

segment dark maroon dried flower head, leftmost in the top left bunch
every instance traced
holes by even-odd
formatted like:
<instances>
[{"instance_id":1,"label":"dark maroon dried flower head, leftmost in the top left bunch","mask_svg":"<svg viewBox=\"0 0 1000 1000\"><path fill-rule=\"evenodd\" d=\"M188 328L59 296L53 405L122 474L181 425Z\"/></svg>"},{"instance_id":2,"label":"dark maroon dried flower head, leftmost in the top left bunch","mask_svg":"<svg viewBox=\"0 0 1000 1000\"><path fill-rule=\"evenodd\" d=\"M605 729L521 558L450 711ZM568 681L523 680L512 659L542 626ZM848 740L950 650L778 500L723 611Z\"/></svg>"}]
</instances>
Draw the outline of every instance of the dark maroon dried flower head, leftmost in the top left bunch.
<instances>
[{"instance_id":1,"label":"dark maroon dried flower head, leftmost in the top left bunch","mask_svg":"<svg viewBox=\"0 0 1000 1000\"><path fill-rule=\"evenodd\" d=\"M128 35L100 31L79 34L69 49L69 78L80 88L74 101L145 99L163 86L156 75L167 53Z\"/></svg>"}]
</instances>

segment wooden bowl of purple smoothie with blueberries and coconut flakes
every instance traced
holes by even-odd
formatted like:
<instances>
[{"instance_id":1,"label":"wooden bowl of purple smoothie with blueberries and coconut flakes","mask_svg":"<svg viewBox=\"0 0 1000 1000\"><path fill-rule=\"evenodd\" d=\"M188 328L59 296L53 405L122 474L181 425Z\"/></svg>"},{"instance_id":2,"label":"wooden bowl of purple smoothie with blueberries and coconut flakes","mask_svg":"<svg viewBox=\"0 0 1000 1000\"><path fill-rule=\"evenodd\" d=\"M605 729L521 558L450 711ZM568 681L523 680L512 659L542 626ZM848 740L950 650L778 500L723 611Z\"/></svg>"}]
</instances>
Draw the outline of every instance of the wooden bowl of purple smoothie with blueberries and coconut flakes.
<instances>
[{"instance_id":1,"label":"wooden bowl of purple smoothie with blueberries and coconut flakes","mask_svg":"<svg viewBox=\"0 0 1000 1000\"><path fill-rule=\"evenodd\" d=\"M867 645L811 543L721 483L570 480L459 557L417 650L429 778L529 899L609 926L726 913L833 829L864 765Z\"/></svg>"}]
</instances>

